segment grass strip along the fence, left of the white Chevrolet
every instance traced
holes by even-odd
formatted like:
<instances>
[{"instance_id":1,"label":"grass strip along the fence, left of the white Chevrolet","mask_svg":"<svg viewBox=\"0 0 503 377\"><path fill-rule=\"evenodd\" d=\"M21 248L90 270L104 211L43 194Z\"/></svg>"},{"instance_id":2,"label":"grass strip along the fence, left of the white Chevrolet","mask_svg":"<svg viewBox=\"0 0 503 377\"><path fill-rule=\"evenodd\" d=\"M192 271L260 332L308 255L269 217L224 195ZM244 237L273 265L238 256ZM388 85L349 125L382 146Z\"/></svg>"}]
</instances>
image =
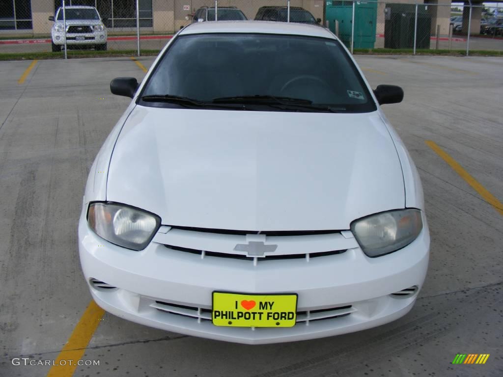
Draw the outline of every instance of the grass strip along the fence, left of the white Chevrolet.
<instances>
[{"instance_id":1,"label":"grass strip along the fence, left of the white Chevrolet","mask_svg":"<svg viewBox=\"0 0 503 377\"><path fill-rule=\"evenodd\" d=\"M157 56L159 50L140 50L142 56ZM77 58L105 58L117 56L136 56L136 50L68 50L68 59ZM45 60L45 59L64 59L64 52L16 52L0 54L0 60Z\"/></svg>"}]
</instances>

